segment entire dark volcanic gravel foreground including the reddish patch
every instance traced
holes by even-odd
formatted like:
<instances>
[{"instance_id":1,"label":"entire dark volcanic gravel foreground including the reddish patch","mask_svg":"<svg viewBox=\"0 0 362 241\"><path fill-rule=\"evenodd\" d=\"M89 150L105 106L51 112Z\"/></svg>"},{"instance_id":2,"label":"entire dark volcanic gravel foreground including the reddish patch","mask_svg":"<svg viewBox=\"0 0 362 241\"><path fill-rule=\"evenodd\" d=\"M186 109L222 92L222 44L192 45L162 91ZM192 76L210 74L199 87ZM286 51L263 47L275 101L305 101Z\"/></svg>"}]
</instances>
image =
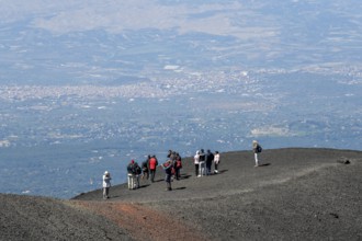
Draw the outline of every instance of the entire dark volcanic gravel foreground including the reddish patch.
<instances>
[{"instance_id":1,"label":"entire dark volcanic gravel foreground including the reddish patch","mask_svg":"<svg viewBox=\"0 0 362 241\"><path fill-rule=\"evenodd\" d=\"M0 195L0 240L362 240L362 152L335 149L222 153L220 174L101 190L73 200ZM349 160L349 164L340 161ZM112 170L110 170L112 172Z\"/></svg>"}]
</instances>

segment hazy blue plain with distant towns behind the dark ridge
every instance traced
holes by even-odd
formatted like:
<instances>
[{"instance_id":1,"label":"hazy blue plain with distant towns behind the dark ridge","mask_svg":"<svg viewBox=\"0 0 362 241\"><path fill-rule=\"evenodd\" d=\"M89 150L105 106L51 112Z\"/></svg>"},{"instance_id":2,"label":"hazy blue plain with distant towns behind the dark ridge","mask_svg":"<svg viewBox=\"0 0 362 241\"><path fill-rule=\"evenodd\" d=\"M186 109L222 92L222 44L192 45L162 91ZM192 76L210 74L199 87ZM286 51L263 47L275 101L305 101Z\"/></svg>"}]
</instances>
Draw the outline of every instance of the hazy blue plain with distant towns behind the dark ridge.
<instances>
[{"instance_id":1,"label":"hazy blue plain with distant towns behind the dark ridge","mask_svg":"<svg viewBox=\"0 0 362 241\"><path fill-rule=\"evenodd\" d=\"M0 193L69 198L169 149L361 150L360 3L0 4Z\"/></svg>"}]
</instances>

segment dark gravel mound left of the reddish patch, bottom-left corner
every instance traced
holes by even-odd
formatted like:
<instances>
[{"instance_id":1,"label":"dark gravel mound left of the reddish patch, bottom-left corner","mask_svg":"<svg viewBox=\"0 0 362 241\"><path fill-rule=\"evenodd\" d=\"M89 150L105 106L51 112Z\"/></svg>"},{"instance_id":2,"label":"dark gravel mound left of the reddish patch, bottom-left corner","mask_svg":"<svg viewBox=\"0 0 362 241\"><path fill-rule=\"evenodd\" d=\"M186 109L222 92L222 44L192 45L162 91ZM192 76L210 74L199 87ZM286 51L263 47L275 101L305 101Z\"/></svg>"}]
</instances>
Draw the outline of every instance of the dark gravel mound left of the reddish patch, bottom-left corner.
<instances>
[{"instance_id":1,"label":"dark gravel mound left of the reddish patch, bottom-left corner","mask_svg":"<svg viewBox=\"0 0 362 241\"><path fill-rule=\"evenodd\" d=\"M53 198L0 195L0 240L131 240L101 216Z\"/></svg>"}]
</instances>

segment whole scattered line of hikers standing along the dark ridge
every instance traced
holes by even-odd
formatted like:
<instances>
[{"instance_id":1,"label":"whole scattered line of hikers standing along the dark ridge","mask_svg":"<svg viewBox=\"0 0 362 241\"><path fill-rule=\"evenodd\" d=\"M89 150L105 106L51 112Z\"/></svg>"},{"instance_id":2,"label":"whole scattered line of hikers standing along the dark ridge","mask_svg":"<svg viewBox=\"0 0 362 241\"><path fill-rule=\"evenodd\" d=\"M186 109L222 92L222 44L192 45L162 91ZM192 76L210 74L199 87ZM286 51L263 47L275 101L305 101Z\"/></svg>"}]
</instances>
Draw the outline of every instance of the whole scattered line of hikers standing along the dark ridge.
<instances>
[{"instance_id":1,"label":"whole scattered line of hikers standing along the dark ridge","mask_svg":"<svg viewBox=\"0 0 362 241\"><path fill-rule=\"evenodd\" d=\"M262 151L261 146L257 140L252 141L252 150L254 153L254 167L260 167L260 160L258 159L258 153ZM200 177L203 175L217 174L218 165L220 163L220 154L218 151L214 153L211 150L204 152L204 149L197 150L196 154L193 157L195 165L195 176ZM214 171L212 172L212 165L214 163ZM159 165L156 156L147 156L147 159L139 165L135 160L131 160L127 165L127 182L128 190L139 188L139 179L150 180L151 183L155 182L155 175L157 167ZM160 165L165 171L166 190L172 191L171 182L173 179L181 179L182 159L181 156L172 150L169 150L167 154L167 161ZM103 174L103 198L109 198L109 192L111 187L111 175L108 171Z\"/></svg>"}]
</instances>

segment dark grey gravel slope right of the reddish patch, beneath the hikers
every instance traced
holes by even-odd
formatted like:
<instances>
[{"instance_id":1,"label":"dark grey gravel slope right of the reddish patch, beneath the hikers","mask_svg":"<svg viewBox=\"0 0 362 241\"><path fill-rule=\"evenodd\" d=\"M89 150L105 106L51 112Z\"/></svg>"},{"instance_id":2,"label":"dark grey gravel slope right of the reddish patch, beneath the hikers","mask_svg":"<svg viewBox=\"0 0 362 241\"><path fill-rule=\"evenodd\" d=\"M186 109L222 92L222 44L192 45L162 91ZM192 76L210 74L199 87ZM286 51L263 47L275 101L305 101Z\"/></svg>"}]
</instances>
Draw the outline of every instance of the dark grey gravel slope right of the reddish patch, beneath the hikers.
<instances>
[{"instance_id":1,"label":"dark grey gravel slope right of the reddish patch, beneath the hikers","mask_svg":"<svg viewBox=\"0 0 362 241\"><path fill-rule=\"evenodd\" d=\"M250 151L222 153L222 173L205 177L185 159L172 192L159 175L136 191L113 187L112 200L165 213L211 240L362 239L362 152L292 148L264 150L261 159L265 165L253 168Z\"/></svg>"}]
</instances>

